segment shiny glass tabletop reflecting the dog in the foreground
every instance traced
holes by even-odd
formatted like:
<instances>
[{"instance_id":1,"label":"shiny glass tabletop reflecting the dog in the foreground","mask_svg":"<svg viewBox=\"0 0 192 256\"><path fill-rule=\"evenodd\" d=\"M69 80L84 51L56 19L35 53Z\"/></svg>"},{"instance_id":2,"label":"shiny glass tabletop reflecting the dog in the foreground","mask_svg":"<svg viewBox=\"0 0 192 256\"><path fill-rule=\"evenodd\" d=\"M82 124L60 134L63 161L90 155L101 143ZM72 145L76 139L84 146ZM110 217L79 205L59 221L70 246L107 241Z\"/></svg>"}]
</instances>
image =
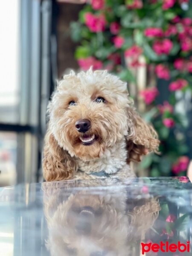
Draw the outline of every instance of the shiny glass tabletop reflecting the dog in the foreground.
<instances>
[{"instance_id":1,"label":"shiny glass tabletop reflecting the dog in the foreground","mask_svg":"<svg viewBox=\"0 0 192 256\"><path fill-rule=\"evenodd\" d=\"M0 189L0 256L192 255L187 177Z\"/></svg>"}]
</instances>

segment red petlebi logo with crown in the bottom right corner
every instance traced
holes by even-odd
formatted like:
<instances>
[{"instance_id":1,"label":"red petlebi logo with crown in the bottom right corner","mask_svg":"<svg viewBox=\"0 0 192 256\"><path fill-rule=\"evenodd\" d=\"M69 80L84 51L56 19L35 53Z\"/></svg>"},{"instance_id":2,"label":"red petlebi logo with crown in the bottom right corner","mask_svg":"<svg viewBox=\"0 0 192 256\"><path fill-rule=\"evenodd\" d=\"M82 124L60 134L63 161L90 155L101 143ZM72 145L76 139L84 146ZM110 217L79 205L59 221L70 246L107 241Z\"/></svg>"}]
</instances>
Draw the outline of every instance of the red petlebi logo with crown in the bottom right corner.
<instances>
[{"instance_id":1,"label":"red petlebi logo with crown in the bottom right corner","mask_svg":"<svg viewBox=\"0 0 192 256\"><path fill-rule=\"evenodd\" d=\"M163 242L160 241L160 244L154 244L154 243L141 243L141 247L142 247L142 254L144 255L144 253L148 253L150 251L154 252L154 253L158 253L158 252L163 252L163 253L176 253L176 252L190 252L190 241L187 241L185 244L181 243L180 241L178 241L176 244L175 243L169 243L168 241Z\"/></svg>"}]
</instances>

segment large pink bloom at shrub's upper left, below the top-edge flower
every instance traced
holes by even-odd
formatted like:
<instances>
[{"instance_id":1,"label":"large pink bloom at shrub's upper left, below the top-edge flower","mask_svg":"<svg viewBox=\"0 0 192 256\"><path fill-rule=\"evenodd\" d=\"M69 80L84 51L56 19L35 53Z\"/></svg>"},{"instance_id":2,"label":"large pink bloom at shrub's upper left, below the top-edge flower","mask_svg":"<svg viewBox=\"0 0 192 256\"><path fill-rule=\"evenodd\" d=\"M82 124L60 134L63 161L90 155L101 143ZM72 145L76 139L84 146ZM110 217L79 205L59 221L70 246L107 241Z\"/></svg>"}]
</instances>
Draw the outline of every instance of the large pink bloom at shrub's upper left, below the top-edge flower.
<instances>
[{"instance_id":1,"label":"large pink bloom at shrub's upper left, below the top-edge flower","mask_svg":"<svg viewBox=\"0 0 192 256\"><path fill-rule=\"evenodd\" d=\"M91 32L102 32L105 30L106 20L104 15L93 15L91 12L85 14L85 24Z\"/></svg>"}]
</instances>

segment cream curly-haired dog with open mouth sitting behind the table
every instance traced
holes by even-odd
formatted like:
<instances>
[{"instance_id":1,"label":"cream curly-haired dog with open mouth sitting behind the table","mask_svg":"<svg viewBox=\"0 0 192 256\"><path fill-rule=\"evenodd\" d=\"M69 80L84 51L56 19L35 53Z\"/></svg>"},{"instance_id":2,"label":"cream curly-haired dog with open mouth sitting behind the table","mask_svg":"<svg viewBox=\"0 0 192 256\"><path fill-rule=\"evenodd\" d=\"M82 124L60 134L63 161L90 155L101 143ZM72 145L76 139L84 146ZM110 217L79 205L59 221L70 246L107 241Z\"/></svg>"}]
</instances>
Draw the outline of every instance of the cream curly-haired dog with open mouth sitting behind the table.
<instances>
[{"instance_id":1,"label":"cream curly-haired dog with open mouth sitting behind the table","mask_svg":"<svg viewBox=\"0 0 192 256\"><path fill-rule=\"evenodd\" d=\"M47 181L131 177L129 163L159 145L154 129L134 110L127 84L106 70L64 76L48 113Z\"/></svg>"}]
</instances>

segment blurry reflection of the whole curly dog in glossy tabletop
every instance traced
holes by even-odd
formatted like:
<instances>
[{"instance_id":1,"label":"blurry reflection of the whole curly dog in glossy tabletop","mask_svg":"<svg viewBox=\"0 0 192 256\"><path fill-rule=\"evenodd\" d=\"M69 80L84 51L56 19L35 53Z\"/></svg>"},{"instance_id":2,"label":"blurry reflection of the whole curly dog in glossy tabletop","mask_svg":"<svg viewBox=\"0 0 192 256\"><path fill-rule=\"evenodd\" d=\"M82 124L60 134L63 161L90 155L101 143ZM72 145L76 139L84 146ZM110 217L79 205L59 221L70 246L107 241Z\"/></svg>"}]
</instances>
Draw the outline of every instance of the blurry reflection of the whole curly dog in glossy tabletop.
<instances>
[{"instance_id":1,"label":"blurry reflection of the whole curly dog in glossy tabletop","mask_svg":"<svg viewBox=\"0 0 192 256\"><path fill-rule=\"evenodd\" d=\"M160 209L154 198L128 201L125 187L118 193L104 184L102 189L74 189L66 198L70 190L61 183L47 185L44 209L52 256L133 256L131 247L154 224Z\"/></svg>"}]
</instances>

